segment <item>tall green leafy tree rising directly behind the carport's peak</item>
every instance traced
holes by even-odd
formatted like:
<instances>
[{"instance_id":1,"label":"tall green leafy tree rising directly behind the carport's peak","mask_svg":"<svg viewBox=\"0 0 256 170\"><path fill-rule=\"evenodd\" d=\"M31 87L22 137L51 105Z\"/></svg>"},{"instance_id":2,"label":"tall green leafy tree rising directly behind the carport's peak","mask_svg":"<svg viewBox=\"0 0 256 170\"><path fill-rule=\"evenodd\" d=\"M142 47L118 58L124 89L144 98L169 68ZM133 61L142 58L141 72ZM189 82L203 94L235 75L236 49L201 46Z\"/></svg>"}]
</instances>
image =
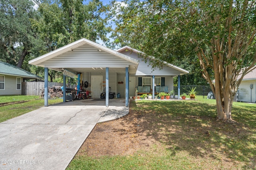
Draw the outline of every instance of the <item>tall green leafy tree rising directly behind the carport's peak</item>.
<instances>
[{"instance_id":1,"label":"tall green leafy tree rising directly behind the carport's peak","mask_svg":"<svg viewBox=\"0 0 256 170\"><path fill-rule=\"evenodd\" d=\"M101 17L104 11L99 0L91 0L88 4L83 4L82 0L43 1L38 8L40 18L32 21L32 27L45 43L41 55L81 38L108 41L106 34L111 28ZM59 74L51 70L49 76L53 81Z\"/></svg>"}]
</instances>

